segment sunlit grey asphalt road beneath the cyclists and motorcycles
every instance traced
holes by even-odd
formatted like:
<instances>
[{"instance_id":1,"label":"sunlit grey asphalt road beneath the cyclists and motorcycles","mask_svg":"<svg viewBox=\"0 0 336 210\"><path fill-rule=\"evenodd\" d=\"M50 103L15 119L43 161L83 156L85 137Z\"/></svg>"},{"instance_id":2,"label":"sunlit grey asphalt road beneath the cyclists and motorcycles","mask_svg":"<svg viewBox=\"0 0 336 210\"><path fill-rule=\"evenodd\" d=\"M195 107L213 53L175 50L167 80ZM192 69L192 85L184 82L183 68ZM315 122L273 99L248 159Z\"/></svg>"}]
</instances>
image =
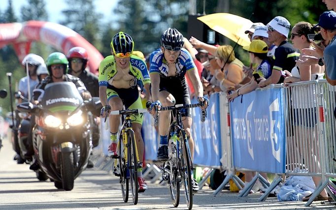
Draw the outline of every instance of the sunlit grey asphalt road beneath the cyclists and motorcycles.
<instances>
[{"instance_id":1,"label":"sunlit grey asphalt road beneath the cyclists and motorcycles","mask_svg":"<svg viewBox=\"0 0 336 210\"><path fill-rule=\"evenodd\" d=\"M53 182L38 181L27 164L13 161L14 151L7 140L0 151L0 210L111 210L111 209L186 209L184 195L178 208L173 208L167 185L148 183L148 190L139 195L138 204L124 203L118 179L98 170L85 170L74 183L71 191L58 190ZM182 191L183 192L183 191ZM336 209L334 204L314 202L309 208L304 202L278 202L268 198L258 202L261 194L238 198L237 193L223 190L212 195L213 190L204 186L194 196L195 210L291 210L291 209Z\"/></svg>"}]
</instances>

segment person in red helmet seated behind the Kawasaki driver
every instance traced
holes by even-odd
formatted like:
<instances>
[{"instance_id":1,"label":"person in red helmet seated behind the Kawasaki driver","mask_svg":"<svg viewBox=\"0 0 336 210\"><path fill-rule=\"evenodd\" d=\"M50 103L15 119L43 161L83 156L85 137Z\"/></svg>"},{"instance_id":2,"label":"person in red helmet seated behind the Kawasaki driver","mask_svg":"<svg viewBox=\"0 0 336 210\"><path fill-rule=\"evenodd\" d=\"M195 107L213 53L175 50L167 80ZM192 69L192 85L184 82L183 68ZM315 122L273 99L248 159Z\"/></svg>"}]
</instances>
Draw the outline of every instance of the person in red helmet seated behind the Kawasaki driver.
<instances>
[{"instance_id":1,"label":"person in red helmet seated behind the Kawasaki driver","mask_svg":"<svg viewBox=\"0 0 336 210\"><path fill-rule=\"evenodd\" d=\"M69 61L68 74L78 77L93 97L99 97L98 76L85 69L89 60L87 51L82 47L73 47L67 52L67 60ZM99 120L100 118L94 118L91 123L93 147L99 144ZM93 166L93 162L89 159L87 168L93 168Z\"/></svg>"}]
</instances>

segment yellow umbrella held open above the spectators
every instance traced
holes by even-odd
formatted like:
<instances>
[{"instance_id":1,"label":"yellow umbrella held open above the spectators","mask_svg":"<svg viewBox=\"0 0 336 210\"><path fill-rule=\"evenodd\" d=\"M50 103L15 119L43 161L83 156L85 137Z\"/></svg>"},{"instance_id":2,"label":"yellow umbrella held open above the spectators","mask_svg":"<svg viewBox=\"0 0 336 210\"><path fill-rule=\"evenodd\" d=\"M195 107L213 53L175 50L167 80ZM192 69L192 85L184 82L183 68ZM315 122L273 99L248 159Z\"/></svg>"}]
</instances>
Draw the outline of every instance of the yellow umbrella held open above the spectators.
<instances>
[{"instance_id":1,"label":"yellow umbrella held open above the spectators","mask_svg":"<svg viewBox=\"0 0 336 210\"><path fill-rule=\"evenodd\" d=\"M240 46L249 45L250 39L245 30L250 29L253 22L230 13L214 13L197 18L206 24L210 29L223 34Z\"/></svg>"}]
</instances>

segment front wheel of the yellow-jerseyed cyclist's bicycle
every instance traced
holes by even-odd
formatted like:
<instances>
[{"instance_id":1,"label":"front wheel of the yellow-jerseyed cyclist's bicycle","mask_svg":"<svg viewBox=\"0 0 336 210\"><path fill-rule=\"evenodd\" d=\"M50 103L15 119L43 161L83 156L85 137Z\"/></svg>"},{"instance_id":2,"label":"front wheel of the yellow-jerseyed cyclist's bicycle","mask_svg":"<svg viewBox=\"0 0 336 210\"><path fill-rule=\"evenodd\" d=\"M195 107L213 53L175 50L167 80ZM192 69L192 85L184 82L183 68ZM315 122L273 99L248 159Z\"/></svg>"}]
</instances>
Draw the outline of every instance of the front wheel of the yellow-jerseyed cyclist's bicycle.
<instances>
[{"instance_id":1,"label":"front wheel of the yellow-jerseyed cyclist's bicycle","mask_svg":"<svg viewBox=\"0 0 336 210\"><path fill-rule=\"evenodd\" d=\"M137 204L139 184L137 182L137 158L135 149L135 137L134 131L129 130L127 133L129 150L128 150L128 166L130 170L130 178L132 184L132 198L134 205Z\"/></svg>"}]
</instances>

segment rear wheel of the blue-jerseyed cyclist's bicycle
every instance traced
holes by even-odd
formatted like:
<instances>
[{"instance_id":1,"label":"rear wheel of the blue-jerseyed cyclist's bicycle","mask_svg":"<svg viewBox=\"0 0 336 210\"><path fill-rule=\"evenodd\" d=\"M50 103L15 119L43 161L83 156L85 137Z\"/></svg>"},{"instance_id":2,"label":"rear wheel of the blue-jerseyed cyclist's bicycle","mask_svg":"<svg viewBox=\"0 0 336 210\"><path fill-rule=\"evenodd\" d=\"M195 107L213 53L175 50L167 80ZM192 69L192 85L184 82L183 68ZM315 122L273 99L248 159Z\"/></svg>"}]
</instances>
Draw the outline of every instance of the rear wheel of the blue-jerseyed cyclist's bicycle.
<instances>
[{"instance_id":1,"label":"rear wheel of the blue-jerseyed cyclist's bicycle","mask_svg":"<svg viewBox=\"0 0 336 210\"><path fill-rule=\"evenodd\" d=\"M180 202L180 178L179 176L179 155L176 153L176 149L171 148L172 145L169 142L169 154L171 154L171 150L174 150L172 157L169 157L169 160L166 162L168 164L168 184L169 184L169 192L172 204L174 207L178 207ZM168 168L166 167L166 168Z\"/></svg>"}]
</instances>

